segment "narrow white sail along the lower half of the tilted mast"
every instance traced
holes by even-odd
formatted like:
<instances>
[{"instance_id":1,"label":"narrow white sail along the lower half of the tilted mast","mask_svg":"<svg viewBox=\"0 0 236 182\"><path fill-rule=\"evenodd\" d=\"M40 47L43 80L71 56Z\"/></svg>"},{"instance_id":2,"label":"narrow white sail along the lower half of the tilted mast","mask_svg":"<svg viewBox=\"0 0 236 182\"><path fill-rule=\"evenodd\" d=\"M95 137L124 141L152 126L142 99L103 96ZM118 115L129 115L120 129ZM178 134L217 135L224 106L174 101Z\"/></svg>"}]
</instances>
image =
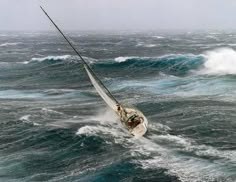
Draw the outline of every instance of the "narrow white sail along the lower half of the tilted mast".
<instances>
[{"instance_id":1,"label":"narrow white sail along the lower half of the tilted mast","mask_svg":"<svg viewBox=\"0 0 236 182\"><path fill-rule=\"evenodd\" d=\"M93 77L87 66L85 65L84 67L98 94L103 98L103 100L107 103L108 106L110 106L113 110L116 111L117 110L116 102L111 97L109 97L105 92L105 90L96 82L95 78Z\"/></svg>"}]
</instances>

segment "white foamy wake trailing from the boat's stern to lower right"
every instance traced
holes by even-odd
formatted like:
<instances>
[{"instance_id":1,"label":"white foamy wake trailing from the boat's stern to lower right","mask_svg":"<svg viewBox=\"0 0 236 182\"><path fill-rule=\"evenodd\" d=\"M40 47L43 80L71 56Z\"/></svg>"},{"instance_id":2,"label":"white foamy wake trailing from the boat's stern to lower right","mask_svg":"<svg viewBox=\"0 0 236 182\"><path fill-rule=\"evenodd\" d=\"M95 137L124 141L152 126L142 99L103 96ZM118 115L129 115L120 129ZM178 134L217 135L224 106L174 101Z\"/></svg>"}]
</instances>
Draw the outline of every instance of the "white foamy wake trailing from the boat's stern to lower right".
<instances>
[{"instance_id":1,"label":"white foamy wake trailing from the boat's stern to lower right","mask_svg":"<svg viewBox=\"0 0 236 182\"><path fill-rule=\"evenodd\" d=\"M177 176L181 181L209 181L210 179L217 179L220 176L225 176L223 172L223 163L214 163L204 160L204 158L197 158L185 155L178 155L175 148L165 148L163 145L157 144L160 139L165 139L168 143L177 143L184 147L182 150L187 150L191 148L191 152L198 153L202 149L201 146L192 145L191 141L180 136L173 135L161 135L161 136L151 136L150 139L143 138L141 140L134 141L136 145L131 146L131 154L136 157L136 163L140 164L142 168L165 168L168 169L166 173L170 175ZM193 150L193 151L192 151ZM204 154L212 156L212 154L221 157L224 151L213 150L211 147L205 146ZM217 151L217 152L216 152ZM147 158L138 157L140 154L145 155ZM231 151L232 153L232 151ZM230 153L230 154L231 154ZM197 154L198 155L198 154ZM201 154L203 156L203 154ZM232 161L232 156L235 155L227 154L225 156L230 156ZM233 160L233 162L235 162Z\"/></svg>"}]
</instances>

